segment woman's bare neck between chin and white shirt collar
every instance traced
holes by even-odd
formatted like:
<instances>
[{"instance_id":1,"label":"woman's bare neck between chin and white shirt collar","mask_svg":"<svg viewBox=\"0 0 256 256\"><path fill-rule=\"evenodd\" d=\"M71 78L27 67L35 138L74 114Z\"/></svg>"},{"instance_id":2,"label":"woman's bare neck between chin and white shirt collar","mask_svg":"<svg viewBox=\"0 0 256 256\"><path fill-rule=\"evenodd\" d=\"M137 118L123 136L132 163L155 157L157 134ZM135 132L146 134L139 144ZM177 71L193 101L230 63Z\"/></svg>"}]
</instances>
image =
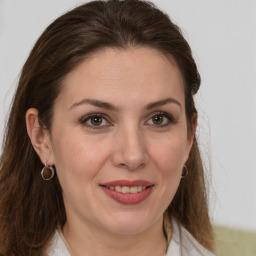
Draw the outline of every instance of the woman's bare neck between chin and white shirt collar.
<instances>
[{"instance_id":1,"label":"woman's bare neck between chin and white shirt collar","mask_svg":"<svg viewBox=\"0 0 256 256\"><path fill-rule=\"evenodd\" d=\"M99 231L88 225L81 229L66 223L63 235L72 256L163 256L167 242L163 233L163 220L160 219L147 230L136 234L117 234Z\"/></svg>"}]
</instances>

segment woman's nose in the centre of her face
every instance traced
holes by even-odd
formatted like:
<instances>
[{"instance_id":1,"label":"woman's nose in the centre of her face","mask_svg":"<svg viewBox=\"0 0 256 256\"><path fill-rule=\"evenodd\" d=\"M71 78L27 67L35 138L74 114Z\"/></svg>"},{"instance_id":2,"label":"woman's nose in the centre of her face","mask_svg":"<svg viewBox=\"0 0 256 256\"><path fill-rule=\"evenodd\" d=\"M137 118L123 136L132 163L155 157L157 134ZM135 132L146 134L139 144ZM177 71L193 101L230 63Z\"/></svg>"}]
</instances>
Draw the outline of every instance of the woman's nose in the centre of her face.
<instances>
[{"instance_id":1,"label":"woman's nose in the centre of her face","mask_svg":"<svg viewBox=\"0 0 256 256\"><path fill-rule=\"evenodd\" d=\"M136 171L149 161L146 141L138 127L119 129L113 145L113 164Z\"/></svg>"}]
</instances>

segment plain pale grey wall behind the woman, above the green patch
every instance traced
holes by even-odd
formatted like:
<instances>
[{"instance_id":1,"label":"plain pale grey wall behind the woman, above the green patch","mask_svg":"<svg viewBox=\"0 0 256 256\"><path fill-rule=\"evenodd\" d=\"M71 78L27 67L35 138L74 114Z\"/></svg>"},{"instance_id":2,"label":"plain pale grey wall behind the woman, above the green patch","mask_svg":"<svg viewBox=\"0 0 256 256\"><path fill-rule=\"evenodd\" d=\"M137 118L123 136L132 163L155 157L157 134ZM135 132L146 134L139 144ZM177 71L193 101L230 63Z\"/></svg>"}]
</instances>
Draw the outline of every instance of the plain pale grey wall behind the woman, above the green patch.
<instances>
[{"instance_id":1,"label":"plain pale grey wall behind the woman, above the green patch","mask_svg":"<svg viewBox=\"0 0 256 256\"><path fill-rule=\"evenodd\" d=\"M59 15L84 2L0 0L0 138L35 41ZM256 230L256 1L153 2L181 27L202 76L197 133L213 221Z\"/></svg>"}]
</instances>

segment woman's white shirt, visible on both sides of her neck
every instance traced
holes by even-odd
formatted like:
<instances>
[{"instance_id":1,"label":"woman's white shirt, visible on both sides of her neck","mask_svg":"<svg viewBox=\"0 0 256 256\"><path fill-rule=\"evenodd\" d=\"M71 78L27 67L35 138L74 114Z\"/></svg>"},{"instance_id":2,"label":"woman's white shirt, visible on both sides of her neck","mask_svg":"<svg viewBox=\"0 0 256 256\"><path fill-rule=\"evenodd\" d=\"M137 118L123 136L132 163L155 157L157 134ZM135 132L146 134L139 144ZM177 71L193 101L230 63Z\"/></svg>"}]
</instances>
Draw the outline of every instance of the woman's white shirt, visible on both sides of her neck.
<instances>
[{"instance_id":1,"label":"woman's white shirt, visible on both sides of her neck","mask_svg":"<svg viewBox=\"0 0 256 256\"><path fill-rule=\"evenodd\" d=\"M169 243L166 256L213 256L185 228L182 226L179 228L176 221L172 221L172 227L172 239ZM51 245L47 250L47 255L71 256L68 245L58 230L54 234Z\"/></svg>"}]
</instances>

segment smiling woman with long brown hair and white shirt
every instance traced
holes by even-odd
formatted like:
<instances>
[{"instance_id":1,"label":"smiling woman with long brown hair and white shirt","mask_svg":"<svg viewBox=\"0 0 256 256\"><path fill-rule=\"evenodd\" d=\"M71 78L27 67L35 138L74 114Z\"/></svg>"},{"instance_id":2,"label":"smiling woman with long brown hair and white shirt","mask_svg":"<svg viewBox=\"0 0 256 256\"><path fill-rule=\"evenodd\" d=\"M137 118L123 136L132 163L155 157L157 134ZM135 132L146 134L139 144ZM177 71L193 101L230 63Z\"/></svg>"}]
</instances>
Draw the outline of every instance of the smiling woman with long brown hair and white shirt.
<instances>
[{"instance_id":1,"label":"smiling woman with long brown hair and white shirt","mask_svg":"<svg viewBox=\"0 0 256 256\"><path fill-rule=\"evenodd\" d=\"M6 130L3 255L212 255L199 86L188 43L150 2L95 1L54 21Z\"/></svg>"}]
</instances>

